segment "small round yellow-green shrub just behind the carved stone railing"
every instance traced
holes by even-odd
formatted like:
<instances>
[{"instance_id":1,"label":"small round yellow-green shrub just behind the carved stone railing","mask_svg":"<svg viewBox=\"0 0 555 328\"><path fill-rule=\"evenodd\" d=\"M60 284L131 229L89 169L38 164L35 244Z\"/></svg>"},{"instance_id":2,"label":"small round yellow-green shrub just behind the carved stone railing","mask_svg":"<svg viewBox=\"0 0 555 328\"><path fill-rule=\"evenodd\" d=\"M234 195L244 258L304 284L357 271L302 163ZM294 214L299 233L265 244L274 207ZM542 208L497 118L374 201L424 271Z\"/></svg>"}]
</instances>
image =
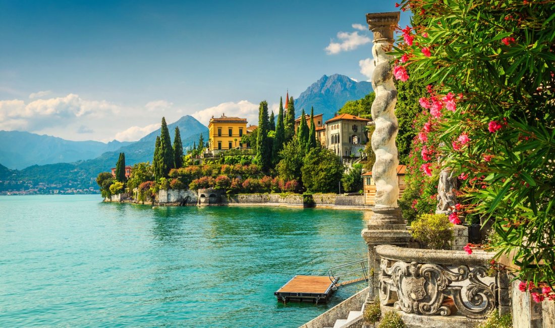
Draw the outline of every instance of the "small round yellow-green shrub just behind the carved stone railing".
<instances>
[{"instance_id":1,"label":"small round yellow-green shrub just behind the carved stone railing","mask_svg":"<svg viewBox=\"0 0 555 328\"><path fill-rule=\"evenodd\" d=\"M452 227L445 214L422 214L411 223L412 237L430 249L450 249Z\"/></svg>"}]
</instances>

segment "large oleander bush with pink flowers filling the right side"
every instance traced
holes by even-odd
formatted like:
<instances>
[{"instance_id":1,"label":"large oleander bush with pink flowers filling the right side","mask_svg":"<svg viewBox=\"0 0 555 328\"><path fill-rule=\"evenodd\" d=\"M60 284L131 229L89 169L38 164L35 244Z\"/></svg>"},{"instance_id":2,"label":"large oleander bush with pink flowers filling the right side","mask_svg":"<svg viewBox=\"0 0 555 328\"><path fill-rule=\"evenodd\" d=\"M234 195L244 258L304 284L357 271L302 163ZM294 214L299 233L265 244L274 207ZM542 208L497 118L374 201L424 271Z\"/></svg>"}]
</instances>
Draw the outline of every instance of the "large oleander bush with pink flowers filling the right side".
<instances>
[{"instance_id":1,"label":"large oleander bush with pink flowers filling the right side","mask_svg":"<svg viewBox=\"0 0 555 328\"><path fill-rule=\"evenodd\" d=\"M410 79L410 66L433 84L420 104L437 124L441 166L460 176L461 211L493 222L501 238L490 246L512 254L521 279L555 285L555 2L401 8L424 18L402 31L395 77ZM422 171L437 173L428 157Z\"/></svg>"}]
</instances>

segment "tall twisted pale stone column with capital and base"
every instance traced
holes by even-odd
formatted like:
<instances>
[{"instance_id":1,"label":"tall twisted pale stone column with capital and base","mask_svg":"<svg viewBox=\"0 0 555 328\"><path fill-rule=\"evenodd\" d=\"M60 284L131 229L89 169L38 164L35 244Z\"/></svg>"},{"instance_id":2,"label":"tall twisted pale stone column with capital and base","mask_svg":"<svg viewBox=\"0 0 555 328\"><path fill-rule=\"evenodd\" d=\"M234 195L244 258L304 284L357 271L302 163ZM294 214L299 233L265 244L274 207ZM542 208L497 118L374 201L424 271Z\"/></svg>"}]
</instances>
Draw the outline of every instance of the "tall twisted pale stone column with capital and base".
<instances>
[{"instance_id":1,"label":"tall twisted pale stone column with capital and base","mask_svg":"<svg viewBox=\"0 0 555 328\"><path fill-rule=\"evenodd\" d=\"M372 178L376 184L376 198L374 214L368 221L367 229L362 230L362 237L368 245L369 268L374 271L374 275L369 279L370 291L367 298L368 302L373 302L377 295L380 271L375 246L406 246L410 234L397 205L397 89L393 84L393 58L387 55L393 47L393 31L399 21L399 12L366 14L366 21L370 30L374 32L372 54L375 69L372 74L372 87L376 92L376 99L372 103L372 119L376 124L376 130L372 134L372 150L376 154L376 162L372 167Z\"/></svg>"}]
</instances>

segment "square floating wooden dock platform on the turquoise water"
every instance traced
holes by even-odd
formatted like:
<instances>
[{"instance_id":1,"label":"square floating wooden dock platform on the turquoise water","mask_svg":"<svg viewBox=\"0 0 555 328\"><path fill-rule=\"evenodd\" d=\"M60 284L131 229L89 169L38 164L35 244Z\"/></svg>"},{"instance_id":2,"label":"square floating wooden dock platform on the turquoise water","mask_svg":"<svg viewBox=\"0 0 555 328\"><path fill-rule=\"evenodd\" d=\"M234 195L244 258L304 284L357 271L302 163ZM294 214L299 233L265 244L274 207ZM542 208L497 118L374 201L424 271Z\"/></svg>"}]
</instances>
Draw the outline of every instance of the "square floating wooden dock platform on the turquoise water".
<instances>
[{"instance_id":1,"label":"square floating wooden dock platform on the turquoise water","mask_svg":"<svg viewBox=\"0 0 555 328\"><path fill-rule=\"evenodd\" d=\"M301 276L296 275L283 285L274 295L278 300L327 302L330 299L336 281L331 281L329 276Z\"/></svg>"}]
</instances>

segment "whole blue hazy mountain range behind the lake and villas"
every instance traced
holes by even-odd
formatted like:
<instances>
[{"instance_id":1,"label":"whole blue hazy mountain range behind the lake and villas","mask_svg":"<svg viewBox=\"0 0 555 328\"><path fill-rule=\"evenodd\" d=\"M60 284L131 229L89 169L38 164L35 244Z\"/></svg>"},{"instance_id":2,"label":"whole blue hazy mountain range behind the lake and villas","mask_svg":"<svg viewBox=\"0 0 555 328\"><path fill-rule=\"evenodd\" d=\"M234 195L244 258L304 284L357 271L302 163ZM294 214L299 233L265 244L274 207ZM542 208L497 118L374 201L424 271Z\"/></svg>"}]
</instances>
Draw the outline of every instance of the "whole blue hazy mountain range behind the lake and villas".
<instances>
[{"instance_id":1,"label":"whole blue hazy mountain range behind the lake and villas","mask_svg":"<svg viewBox=\"0 0 555 328\"><path fill-rule=\"evenodd\" d=\"M323 113L324 119L330 119L345 102L360 99L371 91L369 82L356 82L340 74L324 75L295 100L296 114L300 115L302 108L310 112L313 106L315 114ZM208 136L208 128L189 115L168 124L171 138L176 126L185 148L198 140L201 133ZM127 165L152 162L157 135L160 129L137 142L101 143L0 131L0 191L27 190L40 183L59 185L60 189L97 189L96 176L114 166L119 153L125 153Z\"/></svg>"}]
</instances>

